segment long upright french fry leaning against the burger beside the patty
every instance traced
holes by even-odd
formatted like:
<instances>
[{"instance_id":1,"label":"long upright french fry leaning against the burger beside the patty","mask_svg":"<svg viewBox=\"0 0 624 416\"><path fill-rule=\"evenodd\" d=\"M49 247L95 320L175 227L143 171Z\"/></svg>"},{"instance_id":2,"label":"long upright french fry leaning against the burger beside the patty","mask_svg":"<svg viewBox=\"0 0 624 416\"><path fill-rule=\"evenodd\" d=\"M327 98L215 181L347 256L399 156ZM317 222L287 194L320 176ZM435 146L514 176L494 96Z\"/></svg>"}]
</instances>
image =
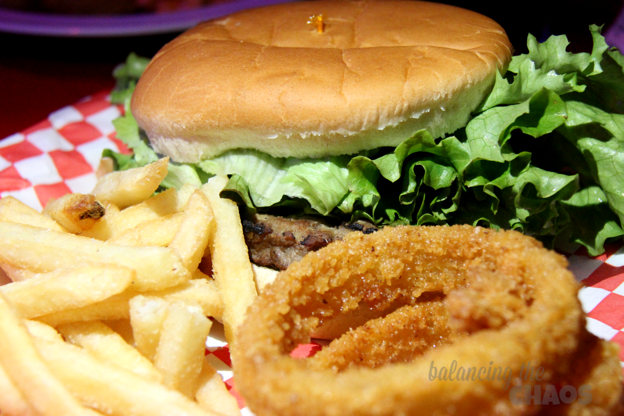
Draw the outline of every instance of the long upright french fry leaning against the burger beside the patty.
<instances>
[{"instance_id":1,"label":"long upright french fry leaning against the burger beside the patty","mask_svg":"<svg viewBox=\"0 0 624 416\"><path fill-rule=\"evenodd\" d=\"M225 336L233 349L236 329L243 323L245 312L257 293L238 207L233 201L219 196L227 181L225 176L212 177L202 186L202 191L215 213L208 241L215 272L213 277L223 297Z\"/></svg>"}]
</instances>

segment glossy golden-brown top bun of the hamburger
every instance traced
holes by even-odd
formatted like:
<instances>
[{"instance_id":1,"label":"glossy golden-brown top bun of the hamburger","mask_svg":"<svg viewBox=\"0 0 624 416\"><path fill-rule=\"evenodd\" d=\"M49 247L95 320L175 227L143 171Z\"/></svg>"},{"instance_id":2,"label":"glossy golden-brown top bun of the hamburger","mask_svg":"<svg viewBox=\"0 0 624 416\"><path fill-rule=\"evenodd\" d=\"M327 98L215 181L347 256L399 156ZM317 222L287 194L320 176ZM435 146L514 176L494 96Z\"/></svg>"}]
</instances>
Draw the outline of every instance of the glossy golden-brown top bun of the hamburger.
<instances>
[{"instance_id":1,"label":"glossy golden-brown top bun of the hamburger","mask_svg":"<svg viewBox=\"0 0 624 416\"><path fill-rule=\"evenodd\" d=\"M324 30L309 24L323 15ZM512 46L478 13L422 1L304 1L205 22L165 45L132 97L154 149L325 157L466 125Z\"/></svg>"}]
</instances>

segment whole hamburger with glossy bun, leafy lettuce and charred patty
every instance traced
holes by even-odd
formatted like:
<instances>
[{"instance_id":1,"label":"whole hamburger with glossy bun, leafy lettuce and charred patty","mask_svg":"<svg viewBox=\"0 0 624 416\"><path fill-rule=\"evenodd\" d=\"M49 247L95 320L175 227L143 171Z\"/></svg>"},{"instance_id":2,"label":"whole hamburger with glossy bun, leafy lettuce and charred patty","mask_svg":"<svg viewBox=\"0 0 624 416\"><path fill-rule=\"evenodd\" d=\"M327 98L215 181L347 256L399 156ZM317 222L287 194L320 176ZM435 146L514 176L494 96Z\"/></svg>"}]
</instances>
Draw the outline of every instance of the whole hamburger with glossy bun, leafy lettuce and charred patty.
<instances>
[{"instance_id":1,"label":"whole hamburger with glossy bun, leafy lettuce and charred patty","mask_svg":"<svg viewBox=\"0 0 624 416\"><path fill-rule=\"evenodd\" d=\"M135 151L118 167L168 155L165 187L228 175L251 258L280 269L346 231L407 223L598 254L624 235L624 60L590 30L591 54L529 35L512 59L496 22L444 4L238 12L147 65L116 123Z\"/></svg>"}]
</instances>

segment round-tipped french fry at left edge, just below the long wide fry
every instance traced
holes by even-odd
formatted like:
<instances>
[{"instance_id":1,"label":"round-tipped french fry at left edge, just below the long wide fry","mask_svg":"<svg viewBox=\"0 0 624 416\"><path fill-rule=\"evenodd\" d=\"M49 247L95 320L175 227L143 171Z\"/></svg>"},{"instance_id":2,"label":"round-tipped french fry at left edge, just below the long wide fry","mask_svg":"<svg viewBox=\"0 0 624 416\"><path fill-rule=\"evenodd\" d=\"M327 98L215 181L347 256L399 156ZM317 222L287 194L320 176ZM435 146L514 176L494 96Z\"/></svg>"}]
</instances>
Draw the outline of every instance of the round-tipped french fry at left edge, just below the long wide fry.
<instances>
[{"instance_id":1,"label":"round-tipped french fry at left edge, just below the long wide fry","mask_svg":"<svg viewBox=\"0 0 624 416\"><path fill-rule=\"evenodd\" d=\"M0 292L22 317L30 319L103 301L122 293L135 276L133 269L124 266L83 264L0 286Z\"/></svg>"}]
</instances>

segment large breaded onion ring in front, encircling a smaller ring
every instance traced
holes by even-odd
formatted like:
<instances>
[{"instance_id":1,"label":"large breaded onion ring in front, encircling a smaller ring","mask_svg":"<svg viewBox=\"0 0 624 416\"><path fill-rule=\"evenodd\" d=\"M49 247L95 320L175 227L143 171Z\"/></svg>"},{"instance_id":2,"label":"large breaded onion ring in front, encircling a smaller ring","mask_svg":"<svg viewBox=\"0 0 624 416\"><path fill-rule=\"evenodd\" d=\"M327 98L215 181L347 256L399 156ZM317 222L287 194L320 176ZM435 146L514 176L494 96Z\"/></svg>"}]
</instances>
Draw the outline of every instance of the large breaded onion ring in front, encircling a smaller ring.
<instances>
[{"instance_id":1,"label":"large breaded onion ring in front, encircling a smaller ring","mask_svg":"<svg viewBox=\"0 0 624 416\"><path fill-rule=\"evenodd\" d=\"M398 226L353 233L291 264L250 307L233 352L236 387L260 416L552 413L553 406L512 404L500 377L432 379L433 367L446 374L455 361L463 369L509 367L507 387L595 384L590 404L562 403L554 406L558 414L620 411L617 349L586 331L566 265L515 231ZM289 356L310 341L311 329L359 302L380 310L397 300L415 306L431 293L440 294L452 336L411 362L336 367L335 360ZM542 367L540 381L519 379L527 365Z\"/></svg>"}]
</instances>

